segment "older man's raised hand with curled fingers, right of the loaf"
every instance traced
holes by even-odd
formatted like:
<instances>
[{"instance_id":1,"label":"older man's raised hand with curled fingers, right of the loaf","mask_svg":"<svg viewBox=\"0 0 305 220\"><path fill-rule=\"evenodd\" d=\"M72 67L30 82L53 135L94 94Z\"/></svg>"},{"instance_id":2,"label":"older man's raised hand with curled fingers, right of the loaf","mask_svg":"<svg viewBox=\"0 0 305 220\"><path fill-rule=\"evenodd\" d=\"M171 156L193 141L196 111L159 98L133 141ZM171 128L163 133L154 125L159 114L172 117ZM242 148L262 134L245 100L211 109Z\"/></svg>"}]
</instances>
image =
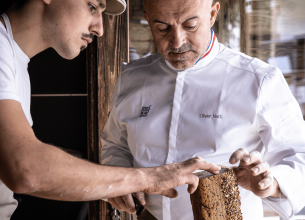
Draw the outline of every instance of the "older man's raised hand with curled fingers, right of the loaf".
<instances>
[{"instance_id":1,"label":"older man's raised hand with curled fingers, right of the loaf","mask_svg":"<svg viewBox=\"0 0 305 220\"><path fill-rule=\"evenodd\" d=\"M238 185L261 198L279 197L278 183L269 172L269 164L262 162L259 152L254 151L249 154L245 149L240 148L230 157L231 164L236 164L238 161L240 164L235 168Z\"/></svg>"}]
</instances>

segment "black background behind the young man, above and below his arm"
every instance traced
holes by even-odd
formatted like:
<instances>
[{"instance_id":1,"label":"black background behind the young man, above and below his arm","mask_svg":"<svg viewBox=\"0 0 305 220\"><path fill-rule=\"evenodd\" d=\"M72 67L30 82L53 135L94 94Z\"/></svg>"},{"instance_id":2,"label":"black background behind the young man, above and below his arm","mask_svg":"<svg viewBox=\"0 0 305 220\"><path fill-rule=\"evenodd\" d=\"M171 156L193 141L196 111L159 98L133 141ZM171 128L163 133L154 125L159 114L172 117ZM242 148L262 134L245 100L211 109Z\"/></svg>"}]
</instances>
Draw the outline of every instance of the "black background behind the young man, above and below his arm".
<instances>
[{"instance_id":1,"label":"black background behind the young man, above and below his arm","mask_svg":"<svg viewBox=\"0 0 305 220\"><path fill-rule=\"evenodd\" d=\"M32 87L33 130L44 143L73 150L87 158L87 97L55 96L86 94L86 52L74 60L48 49L29 63ZM51 96L35 95L51 94ZM76 151L76 152L74 152ZM82 202L61 202L15 194L19 205L12 220L75 220Z\"/></svg>"}]
</instances>

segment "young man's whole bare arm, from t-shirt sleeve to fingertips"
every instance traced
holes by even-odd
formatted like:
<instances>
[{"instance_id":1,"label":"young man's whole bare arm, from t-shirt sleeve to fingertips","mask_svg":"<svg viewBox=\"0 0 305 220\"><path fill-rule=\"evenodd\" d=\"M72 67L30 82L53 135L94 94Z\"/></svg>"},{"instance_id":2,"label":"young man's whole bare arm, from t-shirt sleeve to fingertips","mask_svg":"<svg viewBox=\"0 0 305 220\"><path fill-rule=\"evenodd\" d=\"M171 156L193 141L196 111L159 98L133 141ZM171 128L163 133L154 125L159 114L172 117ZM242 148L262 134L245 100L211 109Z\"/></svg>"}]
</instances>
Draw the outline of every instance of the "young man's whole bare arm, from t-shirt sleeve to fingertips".
<instances>
[{"instance_id":1,"label":"young man's whole bare arm, from t-shirt sleeve to fingertips","mask_svg":"<svg viewBox=\"0 0 305 220\"><path fill-rule=\"evenodd\" d=\"M194 192L197 169L220 167L194 158L179 164L136 169L96 165L40 142L19 102L0 101L0 179L14 192L42 198L88 201L128 193L176 196L175 186ZM168 190L171 189L171 190Z\"/></svg>"}]
</instances>

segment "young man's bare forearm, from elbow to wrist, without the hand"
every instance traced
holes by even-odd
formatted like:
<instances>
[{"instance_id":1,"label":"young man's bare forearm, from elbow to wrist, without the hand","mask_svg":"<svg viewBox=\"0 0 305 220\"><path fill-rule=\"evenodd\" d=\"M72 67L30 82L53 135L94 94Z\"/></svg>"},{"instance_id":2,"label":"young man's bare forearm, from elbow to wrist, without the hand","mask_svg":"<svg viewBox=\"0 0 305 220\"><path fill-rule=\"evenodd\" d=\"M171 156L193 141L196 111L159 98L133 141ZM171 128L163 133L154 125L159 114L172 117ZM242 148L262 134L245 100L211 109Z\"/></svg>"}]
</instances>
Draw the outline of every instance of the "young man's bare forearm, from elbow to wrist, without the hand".
<instances>
[{"instance_id":1,"label":"young man's bare forearm, from elbow to wrist, without the hand","mask_svg":"<svg viewBox=\"0 0 305 220\"><path fill-rule=\"evenodd\" d=\"M97 200L145 188L141 170L93 164L43 143L19 164L23 178L17 191L47 199Z\"/></svg>"}]
</instances>

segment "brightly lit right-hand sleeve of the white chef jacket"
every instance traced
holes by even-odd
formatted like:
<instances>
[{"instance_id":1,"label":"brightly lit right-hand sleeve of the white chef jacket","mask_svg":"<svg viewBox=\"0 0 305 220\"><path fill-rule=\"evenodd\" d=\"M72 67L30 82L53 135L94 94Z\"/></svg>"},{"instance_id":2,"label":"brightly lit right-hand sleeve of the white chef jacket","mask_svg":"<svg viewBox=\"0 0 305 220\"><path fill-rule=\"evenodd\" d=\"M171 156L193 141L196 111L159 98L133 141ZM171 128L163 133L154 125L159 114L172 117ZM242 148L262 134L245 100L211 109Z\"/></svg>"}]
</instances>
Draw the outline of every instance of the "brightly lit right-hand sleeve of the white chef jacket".
<instances>
[{"instance_id":1,"label":"brightly lit right-hand sleeve of the white chef jacket","mask_svg":"<svg viewBox=\"0 0 305 220\"><path fill-rule=\"evenodd\" d=\"M305 206L305 123L300 107L278 68L261 84L257 130L266 147L263 159L287 198L265 198L282 219L293 218Z\"/></svg>"}]
</instances>

